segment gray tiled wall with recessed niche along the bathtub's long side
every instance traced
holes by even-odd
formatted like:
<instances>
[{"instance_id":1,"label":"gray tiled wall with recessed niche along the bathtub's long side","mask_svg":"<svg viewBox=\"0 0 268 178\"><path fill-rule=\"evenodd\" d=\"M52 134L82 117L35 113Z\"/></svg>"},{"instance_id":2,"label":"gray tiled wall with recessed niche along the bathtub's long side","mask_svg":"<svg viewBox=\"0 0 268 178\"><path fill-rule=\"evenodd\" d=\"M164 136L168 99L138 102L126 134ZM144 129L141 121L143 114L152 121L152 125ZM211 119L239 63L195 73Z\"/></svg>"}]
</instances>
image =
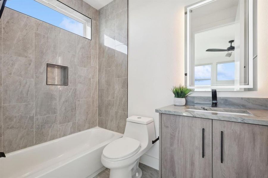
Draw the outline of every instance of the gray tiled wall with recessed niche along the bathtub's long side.
<instances>
[{"instance_id":1,"label":"gray tiled wall with recessed niche along the bathtub's long side","mask_svg":"<svg viewBox=\"0 0 268 178\"><path fill-rule=\"evenodd\" d=\"M92 40L5 8L0 25L0 150L12 152L98 124L98 11ZM46 63L69 67L69 85L46 85Z\"/></svg>"}]
</instances>

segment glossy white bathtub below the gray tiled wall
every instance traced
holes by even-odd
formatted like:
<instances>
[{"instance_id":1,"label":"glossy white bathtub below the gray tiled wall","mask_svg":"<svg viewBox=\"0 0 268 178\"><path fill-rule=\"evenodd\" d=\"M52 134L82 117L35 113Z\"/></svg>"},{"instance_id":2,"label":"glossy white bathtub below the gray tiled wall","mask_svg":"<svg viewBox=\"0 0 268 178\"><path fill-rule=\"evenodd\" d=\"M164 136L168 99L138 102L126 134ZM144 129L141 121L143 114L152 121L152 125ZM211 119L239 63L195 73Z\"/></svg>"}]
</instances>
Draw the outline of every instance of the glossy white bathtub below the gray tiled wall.
<instances>
[{"instance_id":1,"label":"glossy white bathtub below the gray tiled wall","mask_svg":"<svg viewBox=\"0 0 268 178\"><path fill-rule=\"evenodd\" d=\"M95 127L0 158L0 177L86 178L104 169L104 147L123 134Z\"/></svg>"}]
</instances>

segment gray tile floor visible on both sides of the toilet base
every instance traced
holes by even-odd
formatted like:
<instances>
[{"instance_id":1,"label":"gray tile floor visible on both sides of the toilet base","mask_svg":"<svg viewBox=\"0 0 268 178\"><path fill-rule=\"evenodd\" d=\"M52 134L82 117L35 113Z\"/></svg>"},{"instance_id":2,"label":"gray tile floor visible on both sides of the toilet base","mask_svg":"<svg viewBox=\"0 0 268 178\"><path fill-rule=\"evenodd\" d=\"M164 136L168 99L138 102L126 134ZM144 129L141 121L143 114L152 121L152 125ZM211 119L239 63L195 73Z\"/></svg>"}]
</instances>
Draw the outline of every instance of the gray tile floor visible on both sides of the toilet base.
<instances>
[{"instance_id":1,"label":"gray tile floor visible on both sides of the toilet base","mask_svg":"<svg viewBox=\"0 0 268 178\"><path fill-rule=\"evenodd\" d=\"M157 178L158 170L151 168L145 164L139 163L139 167L142 170L142 178ZM106 168L93 178L109 178L110 169Z\"/></svg>"}]
</instances>

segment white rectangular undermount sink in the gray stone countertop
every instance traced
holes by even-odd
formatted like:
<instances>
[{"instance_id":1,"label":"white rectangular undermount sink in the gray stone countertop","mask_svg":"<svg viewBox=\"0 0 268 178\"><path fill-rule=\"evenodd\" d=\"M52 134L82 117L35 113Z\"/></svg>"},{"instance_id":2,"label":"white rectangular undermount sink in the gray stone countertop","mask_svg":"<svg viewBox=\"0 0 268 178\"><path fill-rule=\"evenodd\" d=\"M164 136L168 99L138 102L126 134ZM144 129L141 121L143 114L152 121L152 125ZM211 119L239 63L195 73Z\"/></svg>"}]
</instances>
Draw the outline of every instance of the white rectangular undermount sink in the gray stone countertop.
<instances>
[{"instance_id":1,"label":"white rectangular undermount sink in the gray stone countertop","mask_svg":"<svg viewBox=\"0 0 268 178\"><path fill-rule=\"evenodd\" d=\"M227 108L212 108L212 107L203 107L203 106L187 106L186 110L197 111L197 112L210 112L210 113L253 116L250 112L248 112L247 110L243 110L243 109L227 109Z\"/></svg>"}]
</instances>

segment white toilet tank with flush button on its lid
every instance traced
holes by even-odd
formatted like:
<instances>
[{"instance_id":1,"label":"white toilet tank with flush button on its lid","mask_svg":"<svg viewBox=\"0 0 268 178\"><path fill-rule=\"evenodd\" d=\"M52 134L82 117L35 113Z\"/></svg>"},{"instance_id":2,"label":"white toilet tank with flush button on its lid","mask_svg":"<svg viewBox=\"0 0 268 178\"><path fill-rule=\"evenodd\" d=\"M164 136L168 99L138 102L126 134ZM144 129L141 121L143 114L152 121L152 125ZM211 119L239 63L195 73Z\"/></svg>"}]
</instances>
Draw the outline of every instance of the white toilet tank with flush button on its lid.
<instances>
[{"instance_id":1,"label":"white toilet tank with flush button on its lid","mask_svg":"<svg viewBox=\"0 0 268 178\"><path fill-rule=\"evenodd\" d=\"M142 146L150 145L156 139L153 118L131 116L126 120L124 136L139 140Z\"/></svg>"}]
</instances>

